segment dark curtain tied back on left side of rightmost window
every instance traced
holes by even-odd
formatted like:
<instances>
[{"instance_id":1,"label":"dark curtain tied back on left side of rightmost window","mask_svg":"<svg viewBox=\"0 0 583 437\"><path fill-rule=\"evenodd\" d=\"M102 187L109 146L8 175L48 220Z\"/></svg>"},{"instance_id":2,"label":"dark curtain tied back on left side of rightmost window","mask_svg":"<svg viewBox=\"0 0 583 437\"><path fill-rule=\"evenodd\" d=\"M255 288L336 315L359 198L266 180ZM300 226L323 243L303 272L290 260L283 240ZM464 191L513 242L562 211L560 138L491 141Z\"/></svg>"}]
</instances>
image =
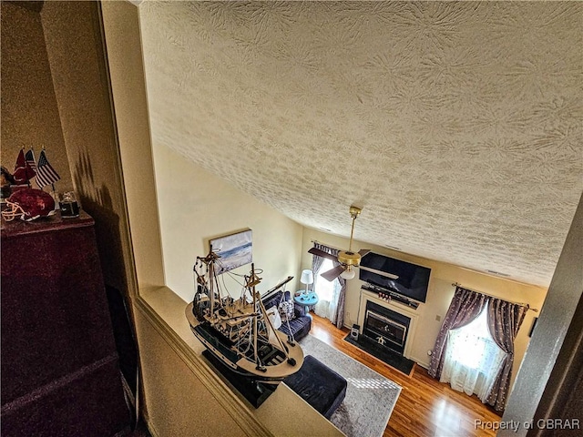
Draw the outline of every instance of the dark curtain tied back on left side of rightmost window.
<instances>
[{"instance_id":1,"label":"dark curtain tied back on left side of rightmost window","mask_svg":"<svg viewBox=\"0 0 583 437\"><path fill-rule=\"evenodd\" d=\"M455 330L465 326L484 309L487 296L476 291L466 290L462 287L456 287L452 303L449 304L447 314L445 314L444 323L435 340L434 350L431 355L429 365L429 375L439 379L444 367L445 348L447 347L447 333L449 330Z\"/></svg>"}]
</instances>

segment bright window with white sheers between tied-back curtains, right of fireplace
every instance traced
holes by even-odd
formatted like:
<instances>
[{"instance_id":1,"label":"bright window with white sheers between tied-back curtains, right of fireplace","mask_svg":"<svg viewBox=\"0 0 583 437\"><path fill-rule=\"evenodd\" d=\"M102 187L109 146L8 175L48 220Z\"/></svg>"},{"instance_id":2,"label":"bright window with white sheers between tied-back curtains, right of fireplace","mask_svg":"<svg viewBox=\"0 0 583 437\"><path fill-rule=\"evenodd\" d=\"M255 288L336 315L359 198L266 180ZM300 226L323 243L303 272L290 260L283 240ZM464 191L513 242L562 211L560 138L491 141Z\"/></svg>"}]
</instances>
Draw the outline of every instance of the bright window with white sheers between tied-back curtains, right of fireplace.
<instances>
[{"instance_id":1,"label":"bright window with white sheers between tied-back curtains, right of fireplace","mask_svg":"<svg viewBox=\"0 0 583 437\"><path fill-rule=\"evenodd\" d=\"M475 320L448 332L440 381L485 401L505 356L488 329L486 305Z\"/></svg>"}]
</instances>

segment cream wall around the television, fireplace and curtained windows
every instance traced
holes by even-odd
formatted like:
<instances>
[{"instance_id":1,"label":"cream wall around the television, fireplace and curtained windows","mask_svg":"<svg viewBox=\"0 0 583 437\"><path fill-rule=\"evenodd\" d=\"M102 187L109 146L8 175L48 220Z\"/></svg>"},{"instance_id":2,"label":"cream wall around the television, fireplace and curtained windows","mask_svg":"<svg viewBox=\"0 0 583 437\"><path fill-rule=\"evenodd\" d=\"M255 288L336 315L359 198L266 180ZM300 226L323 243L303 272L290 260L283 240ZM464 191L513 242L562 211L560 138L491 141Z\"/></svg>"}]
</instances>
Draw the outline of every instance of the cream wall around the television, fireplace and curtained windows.
<instances>
[{"instance_id":1,"label":"cream wall around the television, fireplace and curtained windows","mask_svg":"<svg viewBox=\"0 0 583 437\"><path fill-rule=\"evenodd\" d=\"M363 211L364 213L365 210ZM358 226L358 220L355 226ZM315 229L304 229L302 239L302 269L310 269L312 267L312 255L308 253L308 250L313 246L312 240L317 240L322 244L328 244L339 249L348 248L348 239L326 234ZM542 307L545 296L547 295L546 289L507 279L495 278L444 262L414 257L403 252L357 240L353 241L353 249L372 249L376 253L395 259L403 259L404 261L413 262L414 264L431 269L427 300L425 303L420 304L419 308L415 311L419 315L419 318L415 329L411 354L408 357L424 367L429 366L430 357L427 355L427 351L432 350L434 347L435 339L441 328L445 313L454 296L455 287L452 286L452 283L458 282L465 288L482 291L501 299L525 302L532 308L537 309ZM348 281L346 305L344 308L344 326L351 327L353 323L356 323L360 302L360 288L362 285L363 282L358 279L358 275L355 279ZM537 313L534 311L528 311L527 317L518 332L517 340L515 341L513 377L516 376L520 361L522 361L524 353L527 350L528 341L530 340L528 338L528 331L536 316ZM440 320L435 320L436 317L439 317Z\"/></svg>"}]
</instances>

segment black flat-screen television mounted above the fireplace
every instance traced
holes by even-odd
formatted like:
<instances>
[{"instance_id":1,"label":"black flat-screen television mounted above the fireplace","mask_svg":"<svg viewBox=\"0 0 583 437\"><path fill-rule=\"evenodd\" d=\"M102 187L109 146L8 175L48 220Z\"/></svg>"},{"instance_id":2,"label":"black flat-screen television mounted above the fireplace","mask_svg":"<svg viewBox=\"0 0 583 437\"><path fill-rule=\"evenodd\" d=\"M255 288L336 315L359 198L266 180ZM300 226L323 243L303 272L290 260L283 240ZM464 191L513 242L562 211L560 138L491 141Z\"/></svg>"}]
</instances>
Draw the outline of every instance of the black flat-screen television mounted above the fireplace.
<instances>
[{"instance_id":1,"label":"black flat-screen television mounted above the fireplace","mask_svg":"<svg viewBox=\"0 0 583 437\"><path fill-rule=\"evenodd\" d=\"M389 275L398 276L393 279ZM409 299L424 302L427 299L431 269L410 262L369 252L361 259L359 279L385 290L394 291Z\"/></svg>"}]
</instances>

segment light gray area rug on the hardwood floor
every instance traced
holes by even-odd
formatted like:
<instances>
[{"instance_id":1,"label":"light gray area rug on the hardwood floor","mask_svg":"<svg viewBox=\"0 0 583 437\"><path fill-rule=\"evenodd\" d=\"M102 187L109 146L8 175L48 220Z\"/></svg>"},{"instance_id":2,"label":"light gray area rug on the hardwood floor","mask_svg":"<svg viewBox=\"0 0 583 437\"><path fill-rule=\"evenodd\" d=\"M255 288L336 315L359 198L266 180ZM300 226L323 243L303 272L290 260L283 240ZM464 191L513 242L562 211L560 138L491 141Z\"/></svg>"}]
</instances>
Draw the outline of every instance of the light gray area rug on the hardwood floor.
<instances>
[{"instance_id":1,"label":"light gray area rug on the hardwood floor","mask_svg":"<svg viewBox=\"0 0 583 437\"><path fill-rule=\"evenodd\" d=\"M348 437L382 436L401 386L312 335L300 345L304 355L312 355L348 381L346 397L330 421Z\"/></svg>"}]
</instances>

